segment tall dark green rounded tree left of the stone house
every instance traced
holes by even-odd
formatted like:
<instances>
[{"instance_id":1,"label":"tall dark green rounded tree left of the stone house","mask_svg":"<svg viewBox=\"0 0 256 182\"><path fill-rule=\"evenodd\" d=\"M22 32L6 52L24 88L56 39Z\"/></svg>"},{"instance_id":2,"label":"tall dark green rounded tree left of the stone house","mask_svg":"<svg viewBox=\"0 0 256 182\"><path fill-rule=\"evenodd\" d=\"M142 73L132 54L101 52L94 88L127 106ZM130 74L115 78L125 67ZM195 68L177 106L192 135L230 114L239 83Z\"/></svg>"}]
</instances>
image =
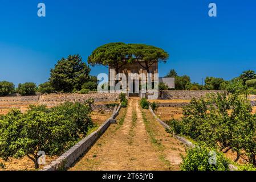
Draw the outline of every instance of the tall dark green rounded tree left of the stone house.
<instances>
[{"instance_id":1,"label":"tall dark green rounded tree left of the stone house","mask_svg":"<svg viewBox=\"0 0 256 182\"><path fill-rule=\"evenodd\" d=\"M51 69L49 78L52 87L58 92L72 92L80 90L84 82L90 80L91 69L82 61L79 55L70 55L62 58Z\"/></svg>"}]
</instances>

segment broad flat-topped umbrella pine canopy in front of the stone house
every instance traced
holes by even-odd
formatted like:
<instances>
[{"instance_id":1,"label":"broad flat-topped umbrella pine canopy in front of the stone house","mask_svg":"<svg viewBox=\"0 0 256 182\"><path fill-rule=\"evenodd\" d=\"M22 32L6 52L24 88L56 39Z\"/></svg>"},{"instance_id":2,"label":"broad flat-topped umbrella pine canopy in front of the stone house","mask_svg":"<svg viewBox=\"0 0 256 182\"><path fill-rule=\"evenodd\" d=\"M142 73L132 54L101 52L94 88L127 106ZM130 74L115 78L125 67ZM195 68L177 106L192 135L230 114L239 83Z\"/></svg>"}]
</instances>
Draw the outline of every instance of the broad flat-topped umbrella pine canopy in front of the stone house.
<instances>
[{"instance_id":1,"label":"broad flat-topped umbrella pine canopy in front of the stone house","mask_svg":"<svg viewBox=\"0 0 256 182\"><path fill-rule=\"evenodd\" d=\"M94 65L104 65L115 69L119 73L119 69L128 63L137 61L141 67L145 68L149 73L149 68L159 62L166 62L169 55L163 49L145 44L125 44L125 43L109 43L96 48L88 57L88 63ZM141 63L141 60L144 63Z\"/></svg>"}]
</instances>

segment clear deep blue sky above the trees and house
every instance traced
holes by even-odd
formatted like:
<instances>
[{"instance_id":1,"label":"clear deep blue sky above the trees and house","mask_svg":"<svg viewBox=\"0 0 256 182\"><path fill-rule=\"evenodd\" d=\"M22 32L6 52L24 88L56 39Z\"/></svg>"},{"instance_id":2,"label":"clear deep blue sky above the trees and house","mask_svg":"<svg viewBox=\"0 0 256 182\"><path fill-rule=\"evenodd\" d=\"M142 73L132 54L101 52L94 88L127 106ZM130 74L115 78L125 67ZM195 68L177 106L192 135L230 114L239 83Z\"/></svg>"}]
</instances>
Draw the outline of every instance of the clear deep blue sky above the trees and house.
<instances>
[{"instance_id":1,"label":"clear deep blue sky above the trees and house","mask_svg":"<svg viewBox=\"0 0 256 182\"><path fill-rule=\"evenodd\" d=\"M46 4L46 17L37 4ZM208 16L210 2L217 18ZM87 61L110 42L144 43L168 51L160 76L176 69L200 82L256 71L256 1L0 0L0 80L47 81L56 61L79 53ZM92 75L105 72L92 68Z\"/></svg>"}]
</instances>

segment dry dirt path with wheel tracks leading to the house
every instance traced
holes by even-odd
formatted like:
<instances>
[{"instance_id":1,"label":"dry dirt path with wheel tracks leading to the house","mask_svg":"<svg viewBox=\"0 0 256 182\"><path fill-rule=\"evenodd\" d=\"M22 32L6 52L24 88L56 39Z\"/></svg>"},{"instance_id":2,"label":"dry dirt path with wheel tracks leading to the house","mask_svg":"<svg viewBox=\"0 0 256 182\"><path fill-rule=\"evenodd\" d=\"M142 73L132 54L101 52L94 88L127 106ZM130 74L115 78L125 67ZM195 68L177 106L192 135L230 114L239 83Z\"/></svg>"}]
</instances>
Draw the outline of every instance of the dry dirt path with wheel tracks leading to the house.
<instances>
[{"instance_id":1,"label":"dry dirt path with wheel tracks leading to the house","mask_svg":"<svg viewBox=\"0 0 256 182\"><path fill-rule=\"evenodd\" d=\"M118 124L111 125L70 170L179 169L184 146L145 112L139 100L131 98L127 109L121 109Z\"/></svg>"}]
</instances>

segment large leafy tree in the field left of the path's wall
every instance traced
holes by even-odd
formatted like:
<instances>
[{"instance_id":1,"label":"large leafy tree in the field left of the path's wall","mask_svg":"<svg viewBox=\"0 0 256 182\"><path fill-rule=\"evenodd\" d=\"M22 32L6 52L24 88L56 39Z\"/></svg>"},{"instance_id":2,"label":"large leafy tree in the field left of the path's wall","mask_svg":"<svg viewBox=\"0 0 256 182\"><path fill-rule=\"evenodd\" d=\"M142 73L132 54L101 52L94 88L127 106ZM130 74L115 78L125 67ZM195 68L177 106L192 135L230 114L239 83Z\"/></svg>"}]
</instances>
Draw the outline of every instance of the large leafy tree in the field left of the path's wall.
<instances>
[{"instance_id":1,"label":"large leafy tree in the field left of the path's wall","mask_svg":"<svg viewBox=\"0 0 256 182\"><path fill-rule=\"evenodd\" d=\"M48 156L62 154L93 125L91 104L66 102L52 109L30 106L25 114L11 110L0 119L0 158L7 161L27 156L38 168L39 151Z\"/></svg>"}]
</instances>

